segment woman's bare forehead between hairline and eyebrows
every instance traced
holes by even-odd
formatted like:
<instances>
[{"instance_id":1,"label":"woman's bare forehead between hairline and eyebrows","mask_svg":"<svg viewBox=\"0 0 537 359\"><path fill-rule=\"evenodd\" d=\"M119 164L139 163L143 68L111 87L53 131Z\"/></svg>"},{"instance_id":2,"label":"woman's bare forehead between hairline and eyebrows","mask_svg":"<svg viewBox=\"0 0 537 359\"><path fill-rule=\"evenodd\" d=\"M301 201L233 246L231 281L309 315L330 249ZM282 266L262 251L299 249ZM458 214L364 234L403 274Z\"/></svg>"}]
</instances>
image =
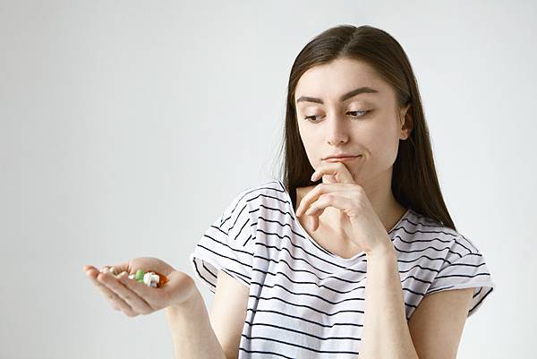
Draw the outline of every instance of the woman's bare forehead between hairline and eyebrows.
<instances>
[{"instance_id":1,"label":"woman's bare forehead between hairline and eyebrows","mask_svg":"<svg viewBox=\"0 0 537 359\"><path fill-rule=\"evenodd\" d=\"M329 64L312 67L299 79L294 100L301 96L337 100L342 94L367 86L378 94L362 94L363 98L380 98L387 95L389 85L367 63L354 59L337 59Z\"/></svg>"}]
</instances>

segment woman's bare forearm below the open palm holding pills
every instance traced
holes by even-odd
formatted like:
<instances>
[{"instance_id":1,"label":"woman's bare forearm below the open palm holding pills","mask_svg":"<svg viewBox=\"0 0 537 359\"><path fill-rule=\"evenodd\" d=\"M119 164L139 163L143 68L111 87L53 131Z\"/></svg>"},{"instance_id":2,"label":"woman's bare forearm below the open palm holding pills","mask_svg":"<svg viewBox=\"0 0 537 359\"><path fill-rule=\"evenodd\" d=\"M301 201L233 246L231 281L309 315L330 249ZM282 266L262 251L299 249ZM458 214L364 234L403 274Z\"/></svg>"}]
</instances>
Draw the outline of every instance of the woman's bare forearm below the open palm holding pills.
<instances>
[{"instance_id":1,"label":"woman's bare forearm below the open palm holding pills","mask_svg":"<svg viewBox=\"0 0 537 359\"><path fill-rule=\"evenodd\" d=\"M195 283L191 297L166 308L175 359L226 359L213 331L203 297Z\"/></svg>"}]
</instances>

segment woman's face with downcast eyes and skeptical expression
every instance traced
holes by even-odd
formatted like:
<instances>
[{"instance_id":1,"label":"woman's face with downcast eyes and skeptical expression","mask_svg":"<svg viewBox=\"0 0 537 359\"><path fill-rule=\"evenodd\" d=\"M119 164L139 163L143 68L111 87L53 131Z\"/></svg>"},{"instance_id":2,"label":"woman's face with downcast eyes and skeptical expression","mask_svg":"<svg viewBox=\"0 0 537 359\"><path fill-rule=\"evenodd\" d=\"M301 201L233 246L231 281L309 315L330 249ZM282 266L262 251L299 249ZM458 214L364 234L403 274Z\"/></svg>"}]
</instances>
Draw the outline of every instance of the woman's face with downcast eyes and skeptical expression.
<instances>
[{"instance_id":1,"label":"woman's face with downcast eyes and skeptical expression","mask_svg":"<svg viewBox=\"0 0 537 359\"><path fill-rule=\"evenodd\" d=\"M371 90L345 96L361 88ZM362 155L343 162L354 181L391 184L399 140L405 140L412 128L402 123L408 106L396 109L394 90L371 66L340 58L312 67L303 73L294 94L298 129L311 167L341 152ZM406 126L412 126L409 117Z\"/></svg>"}]
</instances>

